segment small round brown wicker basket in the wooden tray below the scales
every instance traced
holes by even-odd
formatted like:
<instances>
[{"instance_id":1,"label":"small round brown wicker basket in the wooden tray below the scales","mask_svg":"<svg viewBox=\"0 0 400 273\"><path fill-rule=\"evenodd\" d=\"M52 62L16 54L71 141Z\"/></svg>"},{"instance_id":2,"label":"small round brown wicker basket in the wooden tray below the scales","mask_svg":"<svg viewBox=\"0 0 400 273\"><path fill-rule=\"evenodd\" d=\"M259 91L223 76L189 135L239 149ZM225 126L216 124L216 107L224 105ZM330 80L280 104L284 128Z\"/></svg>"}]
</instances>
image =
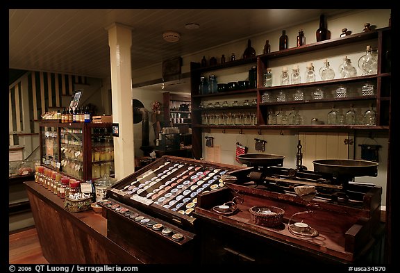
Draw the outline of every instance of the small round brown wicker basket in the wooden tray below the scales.
<instances>
[{"instance_id":1,"label":"small round brown wicker basket in the wooden tray below the scales","mask_svg":"<svg viewBox=\"0 0 400 273\"><path fill-rule=\"evenodd\" d=\"M285 210L276 206L253 206L249 208L251 221L260 226L274 227L283 222Z\"/></svg>"}]
</instances>

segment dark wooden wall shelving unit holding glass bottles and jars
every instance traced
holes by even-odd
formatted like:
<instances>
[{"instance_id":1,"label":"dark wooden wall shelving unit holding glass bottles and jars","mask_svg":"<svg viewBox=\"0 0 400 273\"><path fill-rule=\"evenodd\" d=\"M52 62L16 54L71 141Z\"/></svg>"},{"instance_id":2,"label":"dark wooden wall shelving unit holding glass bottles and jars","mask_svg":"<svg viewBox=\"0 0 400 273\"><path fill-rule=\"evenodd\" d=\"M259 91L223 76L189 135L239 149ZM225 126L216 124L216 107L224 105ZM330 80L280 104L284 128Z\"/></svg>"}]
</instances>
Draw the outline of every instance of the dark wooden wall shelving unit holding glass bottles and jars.
<instances>
[{"instance_id":1,"label":"dark wooden wall shelving unit holding glass bottles and jars","mask_svg":"<svg viewBox=\"0 0 400 273\"><path fill-rule=\"evenodd\" d=\"M358 67L358 60L363 56L363 51L370 45L374 49L376 57L376 73L365 74ZM334 53L332 53L334 52ZM342 54L342 56L341 56ZM320 76L319 68L329 65L329 60L333 58L344 58L349 54L353 56L352 66L358 70L356 76L340 76L339 66L330 68L336 76ZM359 56L358 56L359 55ZM301 47L283 49L249 59L240 59L213 65L209 67L200 67L198 63L191 64L191 88L192 88L192 142L197 143L193 146L195 158L201 158L201 132L203 129L328 129L328 130L383 130L389 129L390 119L390 97L391 97L391 29L380 28L376 31L367 33L355 33L340 38L333 38L312 44L306 44ZM316 61L318 60L318 61ZM307 82L303 78L305 69L300 72L300 83L289 83L281 85L279 76L283 67L290 70L299 63L313 63L315 81ZM239 90L228 90L213 94L201 94L199 92L201 76L207 74L219 74L225 71L232 72L233 69L240 69L251 65L257 65L257 88ZM317 66L319 65L319 66ZM326 68L327 69L327 68ZM244 69L245 72L246 69ZM274 74L274 84L264 84L265 74L269 70ZM290 70L291 71L291 70ZM332 72L329 70L329 72ZM232 72L235 76L235 72ZM218 77L217 77L218 78ZM234 81L240 81L243 78L237 76ZM233 80L231 78L231 80ZM219 81L218 81L219 83ZM209 108L210 102L219 104L228 100L246 100L256 98L256 105L253 106L256 113L256 124L210 124L207 121L209 113L219 113L225 108ZM358 112L358 122L356 124L328 124L328 113L335 106L338 110L344 111L344 114L351 106ZM375 124L365 124L363 117L370 107L376 112ZM243 106L239 107L240 109ZM271 113L278 113L283 109L286 112L290 110L297 111L301 117L301 124L273 124L268 122L268 116ZM238 109L239 110L239 109ZM247 109L246 109L247 110ZM222 111L222 112L224 112ZM242 110L239 110L242 112ZM315 115L321 115L320 120L326 122L313 122ZM276 119L272 119L276 120ZM213 119L215 122L215 119Z\"/></svg>"}]
</instances>

